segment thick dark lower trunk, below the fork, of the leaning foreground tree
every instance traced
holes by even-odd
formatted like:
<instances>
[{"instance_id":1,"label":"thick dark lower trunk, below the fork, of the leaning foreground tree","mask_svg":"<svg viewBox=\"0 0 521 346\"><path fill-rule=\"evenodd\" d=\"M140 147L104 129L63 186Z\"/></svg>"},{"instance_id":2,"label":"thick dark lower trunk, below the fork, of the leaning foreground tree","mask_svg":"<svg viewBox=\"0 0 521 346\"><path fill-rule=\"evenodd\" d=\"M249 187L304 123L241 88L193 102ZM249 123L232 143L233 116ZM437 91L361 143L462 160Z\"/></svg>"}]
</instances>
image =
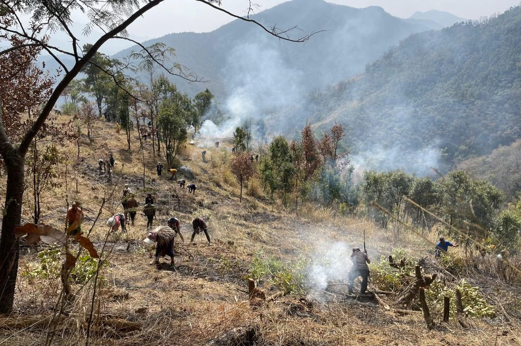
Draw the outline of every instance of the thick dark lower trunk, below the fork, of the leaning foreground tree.
<instances>
[{"instance_id":1,"label":"thick dark lower trunk, below the fork, of the leaning foreground tree","mask_svg":"<svg viewBox=\"0 0 521 346\"><path fill-rule=\"evenodd\" d=\"M13 311L20 250L15 227L21 220L24 179L23 157L15 149L6 154L3 155L7 167L7 190L0 238L0 314Z\"/></svg>"}]
</instances>

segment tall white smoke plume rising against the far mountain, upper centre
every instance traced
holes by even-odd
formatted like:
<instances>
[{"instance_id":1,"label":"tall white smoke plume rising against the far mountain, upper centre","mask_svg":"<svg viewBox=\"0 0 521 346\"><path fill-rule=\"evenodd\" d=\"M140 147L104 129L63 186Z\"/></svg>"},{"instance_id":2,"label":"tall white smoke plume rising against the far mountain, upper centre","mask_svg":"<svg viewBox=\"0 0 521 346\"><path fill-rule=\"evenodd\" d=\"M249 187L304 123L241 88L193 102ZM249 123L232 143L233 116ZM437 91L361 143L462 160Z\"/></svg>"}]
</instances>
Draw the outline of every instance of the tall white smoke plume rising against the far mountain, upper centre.
<instances>
[{"instance_id":1,"label":"tall white smoke plume rising against the far mountain, upper centre","mask_svg":"<svg viewBox=\"0 0 521 346\"><path fill-rule=\"evenodd\" d=\"M226 119L216 124L207 116L197 136L200 142L212 145L231 138L245 120L265 118L305 94L301 89L304 73L285 63L276 47L266 48L259 42L264 40L238 45L230 52L224 69L229 76L225 85L231 91L222 105Z\"/></svg>"}]
</instances>

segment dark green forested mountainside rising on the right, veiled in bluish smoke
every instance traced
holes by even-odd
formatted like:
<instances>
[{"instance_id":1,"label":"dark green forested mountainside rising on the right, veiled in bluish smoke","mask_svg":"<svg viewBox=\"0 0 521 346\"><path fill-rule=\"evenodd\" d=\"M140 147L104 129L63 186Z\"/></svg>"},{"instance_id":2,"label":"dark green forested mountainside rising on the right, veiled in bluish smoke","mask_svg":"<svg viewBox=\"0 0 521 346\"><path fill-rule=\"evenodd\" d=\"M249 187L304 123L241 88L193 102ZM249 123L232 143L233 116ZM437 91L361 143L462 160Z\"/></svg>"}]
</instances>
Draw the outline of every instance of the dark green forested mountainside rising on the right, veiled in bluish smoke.
<instances>
[{"instance_id":1,"label":"dark green forested mountainside rising on the right, veiled in bluish smoke","mask_svg":"<svg viewBox=\"0 0 521 346\"><path fill-rule=\"evenodd\" d=\"M520 7L414 34L362 76L286 109L287 129L339 120L353 154L380 155L371 168L446 170L521 137L520 54Z\"/></svg>"}]
</instances>

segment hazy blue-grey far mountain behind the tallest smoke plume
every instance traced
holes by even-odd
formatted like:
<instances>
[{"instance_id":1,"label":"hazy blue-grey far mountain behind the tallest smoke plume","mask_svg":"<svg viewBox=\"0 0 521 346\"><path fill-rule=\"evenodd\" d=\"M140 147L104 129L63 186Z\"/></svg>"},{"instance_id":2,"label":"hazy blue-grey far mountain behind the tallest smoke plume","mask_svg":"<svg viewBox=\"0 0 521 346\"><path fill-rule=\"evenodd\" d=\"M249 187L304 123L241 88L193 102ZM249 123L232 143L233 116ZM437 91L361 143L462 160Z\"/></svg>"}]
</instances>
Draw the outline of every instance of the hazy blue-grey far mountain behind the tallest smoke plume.
<instances>
[{"instance_id":1,"label":"hazy blue-grey far mountain behind the tallest smoke plume","mask_svg":"<svg viewBox=\"0 0 521 346\"><path fill-rule=\"evenodd\" d=\"M262 30L235 20L208 33L173 33L144 42L163 42L176 49L177 60L208 83L176 80L178 88L196 94L206 88L217 96L246 88L263 75L280 76L298 84L303 92L320 90L362 71L391 45L408 35L430 29L421 22L406 22L380 7L363 9L322 0L293 0L264 10L251 18L271 28L292 30L293 38L322 31L305 44L271 40ZM137 46L120 52L127 55Z\"/></svg>"}]
</instances>

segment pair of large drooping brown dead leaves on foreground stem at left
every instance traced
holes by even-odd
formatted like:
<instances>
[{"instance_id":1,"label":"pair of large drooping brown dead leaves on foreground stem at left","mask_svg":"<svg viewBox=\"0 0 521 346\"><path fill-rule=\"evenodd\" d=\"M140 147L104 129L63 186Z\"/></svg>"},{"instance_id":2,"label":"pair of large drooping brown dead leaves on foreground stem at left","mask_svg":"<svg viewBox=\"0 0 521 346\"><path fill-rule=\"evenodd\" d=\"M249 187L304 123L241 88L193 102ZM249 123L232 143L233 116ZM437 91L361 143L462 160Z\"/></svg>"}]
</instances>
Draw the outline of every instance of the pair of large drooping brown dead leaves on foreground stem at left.
<instances>
[{"instance_id":1,"label":"pair of large drooping brown dead leaves on foreground stem at left","mask_svg":"<svg viewBox=\"0 0 521 346\"><path fill-rule=\"evenodd\" d=\"M36 244L40 240L46 244L65 245L67 243L67 235L64 232L61 232L49 225L25 224L23 226L18 226L15 228L16 238L20 238L25 234L28 234L26 239L28 245ZM89 251L91 257L100 258L100 255L98 255L96 249L94 248L94 244L91 242L89 238L83 237L82 234L83 233L76 234L74 240L76 240L82 246L82 248ZM68 254L69 253L67 253L67 255Z\"/></svg>"}]
</instances>

